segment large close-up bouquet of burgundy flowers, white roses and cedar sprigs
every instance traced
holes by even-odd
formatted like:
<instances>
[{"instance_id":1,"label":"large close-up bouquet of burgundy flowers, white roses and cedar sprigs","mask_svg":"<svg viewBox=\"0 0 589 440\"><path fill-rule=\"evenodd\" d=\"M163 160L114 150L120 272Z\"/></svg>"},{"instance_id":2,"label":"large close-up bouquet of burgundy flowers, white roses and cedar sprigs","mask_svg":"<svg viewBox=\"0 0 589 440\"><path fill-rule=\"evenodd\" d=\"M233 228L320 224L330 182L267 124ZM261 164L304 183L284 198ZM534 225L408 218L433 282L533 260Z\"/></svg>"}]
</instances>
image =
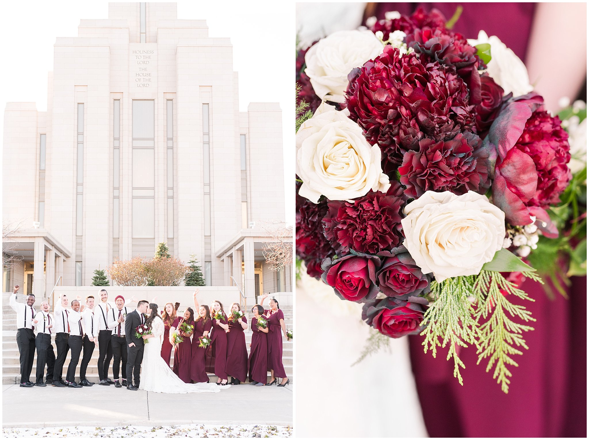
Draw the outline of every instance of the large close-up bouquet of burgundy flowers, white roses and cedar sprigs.
<instances>
[{"instance_id":1,"label":"large close-up bouquet of burgundy flowers, white roses and cedar sprigs","mask_svg":"<svg viewBox=\"0 0 589 440\"><path fill-rule=\"evenodd\" d=\"M369 25L297 57L297 256L380 334L448 346L460 384L475 345L507 393L535 321L518 285L541 282L525 258L558 237L567 132L497 37L421 8Z\"/></svg>"}]
</instances>

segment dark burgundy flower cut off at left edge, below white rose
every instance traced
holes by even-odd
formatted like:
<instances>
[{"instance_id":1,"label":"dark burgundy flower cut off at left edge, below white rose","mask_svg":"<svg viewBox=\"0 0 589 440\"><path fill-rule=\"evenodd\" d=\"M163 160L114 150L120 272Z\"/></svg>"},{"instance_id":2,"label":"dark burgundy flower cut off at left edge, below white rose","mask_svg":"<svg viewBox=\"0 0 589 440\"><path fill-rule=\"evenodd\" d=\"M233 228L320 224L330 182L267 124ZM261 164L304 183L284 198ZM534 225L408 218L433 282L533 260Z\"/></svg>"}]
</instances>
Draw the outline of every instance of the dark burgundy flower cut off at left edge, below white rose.
<instances>
[{"instance_id":1,"label":"dark burgundy flower cut off at left edge, below white rose","mask_svg":"<svg viewBox=\"0 0 589 440\"><path fill-rule=\"evenodd\" d=\"M300 182L297 182L296 195L296 255L305 261L307 274L320 278L321 262L335 251L323 234L321 219L327 212L327 200L314 204L298 194Z\"/></svg>"}]
</instances>

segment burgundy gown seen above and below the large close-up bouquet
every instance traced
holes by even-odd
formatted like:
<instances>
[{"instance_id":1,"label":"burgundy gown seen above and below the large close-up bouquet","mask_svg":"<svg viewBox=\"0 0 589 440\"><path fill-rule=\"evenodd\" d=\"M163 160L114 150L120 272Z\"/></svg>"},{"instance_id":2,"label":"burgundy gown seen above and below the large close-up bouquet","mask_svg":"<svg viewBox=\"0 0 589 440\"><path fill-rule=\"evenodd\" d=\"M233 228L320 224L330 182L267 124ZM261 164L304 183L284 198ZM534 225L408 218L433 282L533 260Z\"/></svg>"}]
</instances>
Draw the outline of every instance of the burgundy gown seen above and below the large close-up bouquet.
<instances>
[{"instance_id":1,"label":"burgundy gown seen above and below the large close-up bouquet","mask_svg":"<svg viewBox=\"0 0 589 440\"><path fill-rule=\"evenodd\" d=\"M455 3L378 3L370 15L386 11L412 14L417 6L437 8L446 18ZM477 38L484 29L497 35L522 61L537 4L462 3L464 11L454 26L465 38ZM555 58L556 59L556 58ZM571 96L571 98L573 98ZM584 101L587 96L579 96ZM428 433L432 437L586 437L587 436L587 277L571 278L569 299L548 298L542 287L526 281L522 288L535 299L525 307L537 321L525 335L523 356L513 374L509 394L501 392L477 364L476 348L462 349L466 364L464 386L452 376L453 365L439 352L423 353L421 336L409 336L411 363ZM510 298L511 299L511 298ZM484 365L483 365L484 364Z\"/></svg>"}]
</instances>

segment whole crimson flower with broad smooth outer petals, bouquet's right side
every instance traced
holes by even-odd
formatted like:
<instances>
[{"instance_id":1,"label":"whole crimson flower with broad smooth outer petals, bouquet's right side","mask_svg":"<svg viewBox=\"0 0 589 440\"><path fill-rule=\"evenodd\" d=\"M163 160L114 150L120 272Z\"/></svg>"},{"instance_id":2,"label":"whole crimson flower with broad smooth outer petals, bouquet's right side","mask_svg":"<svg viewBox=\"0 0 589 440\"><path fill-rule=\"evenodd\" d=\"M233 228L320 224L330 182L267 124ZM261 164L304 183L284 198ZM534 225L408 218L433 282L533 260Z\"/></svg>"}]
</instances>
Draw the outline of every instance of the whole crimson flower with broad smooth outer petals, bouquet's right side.
<instances>
[{"instance_id":1,"label":"whole crimson flower with broad smooth outer petals, bouquet's right side","mask_svg":"<svg viewBox=\"0 0 589 440\"><path fill-rule=\"evenodd\" d=\"M493 203L512 225L528 225L530 216L548 238L558 229L546 212L571 179L570 146L557 117L544 111L538 94L511 98L502 107L484 139L497 148Z\"/></svg>"}]
</instances>

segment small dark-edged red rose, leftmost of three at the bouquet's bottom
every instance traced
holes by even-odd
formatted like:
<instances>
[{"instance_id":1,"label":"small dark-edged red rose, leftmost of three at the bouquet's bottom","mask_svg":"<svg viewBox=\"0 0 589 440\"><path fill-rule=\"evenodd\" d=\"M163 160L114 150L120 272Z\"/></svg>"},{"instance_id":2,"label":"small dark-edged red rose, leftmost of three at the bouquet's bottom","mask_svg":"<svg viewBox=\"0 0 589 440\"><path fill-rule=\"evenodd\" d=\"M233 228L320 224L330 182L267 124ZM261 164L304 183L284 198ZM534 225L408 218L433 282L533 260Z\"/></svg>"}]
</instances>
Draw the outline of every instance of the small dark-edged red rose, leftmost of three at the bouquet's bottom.
<instances>
[{"instance_id":1,"label":"small dark-edged red rose, leftmost of three at the bouquet's bottom","mask_svg":"<svg viewBox=\"0 0 589 440\"><path fill-rule=\"evenodd\" d=\"M322 279L333 287L340 298L348 301L363 302L375 298L376 264L378 257L346 255L334 261L326 258L323 261Z\"/></svg>"}]
</instances>

